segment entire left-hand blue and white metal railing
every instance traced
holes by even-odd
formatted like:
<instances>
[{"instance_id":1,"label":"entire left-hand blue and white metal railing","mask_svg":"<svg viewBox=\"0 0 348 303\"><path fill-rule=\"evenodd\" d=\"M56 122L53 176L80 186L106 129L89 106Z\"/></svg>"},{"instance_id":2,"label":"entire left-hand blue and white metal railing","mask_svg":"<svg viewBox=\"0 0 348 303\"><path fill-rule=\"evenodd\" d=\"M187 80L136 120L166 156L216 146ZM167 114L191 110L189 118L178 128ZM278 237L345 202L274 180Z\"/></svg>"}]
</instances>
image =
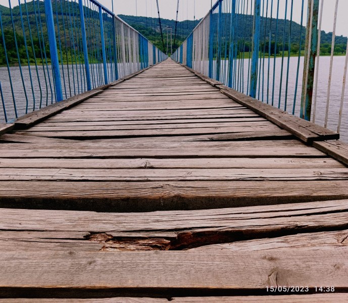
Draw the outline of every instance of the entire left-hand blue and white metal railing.
<instances>
[{"instance_id":1,"label":"entire left-hand blue and white metal railing","mask_svg":"<svg viewBox=\"0 0 348 303\"><path fill-rule=\"evenodd\" d=\"M97 1L12 3L0 7L0 122L167 58Z\"/></svg>"}]
</instances>

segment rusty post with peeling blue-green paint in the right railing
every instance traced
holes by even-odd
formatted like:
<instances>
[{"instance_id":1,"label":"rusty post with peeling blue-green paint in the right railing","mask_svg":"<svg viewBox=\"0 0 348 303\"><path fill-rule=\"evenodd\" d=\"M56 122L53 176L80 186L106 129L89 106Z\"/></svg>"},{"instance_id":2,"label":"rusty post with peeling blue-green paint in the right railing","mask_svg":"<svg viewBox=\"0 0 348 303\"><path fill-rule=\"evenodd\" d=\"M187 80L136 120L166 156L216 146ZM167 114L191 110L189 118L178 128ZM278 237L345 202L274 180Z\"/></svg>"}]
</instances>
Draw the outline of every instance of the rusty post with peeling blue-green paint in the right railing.
<instances>
[{"instance_id":1,"label":"rusty post with peeling blue-green paint in the right railing","mask_svg":"<svg viewBox=\"0 0 348 303\"><path fill-rule=\"evenodd\" d=\"M313 16L312 16L312 35L310 36L312 1L314 1L314 4L313 4ZM300 117L307 121L311 120L311 111L312 111L315 57L317 55L317 44L318 44L318 14L319 14L319 0L308 0L305 60L304 60L304 73L303 73L301 109L300 109ZM309 45L309 41L311 41L311 45ZM308 60L309 60L309 64L308 64ZM308 69L307 69L307 65L308 65ZM307 78L307 83L306 83L306 78Z\"/></svg>"}]
</instances>

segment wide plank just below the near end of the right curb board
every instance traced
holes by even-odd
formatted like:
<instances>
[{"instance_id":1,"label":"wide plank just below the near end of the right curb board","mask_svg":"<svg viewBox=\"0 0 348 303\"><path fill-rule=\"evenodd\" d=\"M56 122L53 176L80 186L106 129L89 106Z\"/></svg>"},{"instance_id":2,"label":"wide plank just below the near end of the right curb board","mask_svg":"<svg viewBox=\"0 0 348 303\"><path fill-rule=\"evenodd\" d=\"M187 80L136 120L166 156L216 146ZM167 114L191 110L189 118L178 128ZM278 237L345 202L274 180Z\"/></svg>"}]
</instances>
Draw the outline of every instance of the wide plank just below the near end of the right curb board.
<instances>
[{"instance_id":1,"label":"wide plank just below the near end of the right curb board","mask_svg":"<svg viewBox=\"0 0 348 303\"><path fill-rule=\"evenodd\" d=\"M322 157L316 148L292 140L211 141L211 142L88 142L74 144L47 143L0 144L3 158L211 158L211 157ZM271 148L271 149L268 149Z\"/></svg>"}]
</instances>

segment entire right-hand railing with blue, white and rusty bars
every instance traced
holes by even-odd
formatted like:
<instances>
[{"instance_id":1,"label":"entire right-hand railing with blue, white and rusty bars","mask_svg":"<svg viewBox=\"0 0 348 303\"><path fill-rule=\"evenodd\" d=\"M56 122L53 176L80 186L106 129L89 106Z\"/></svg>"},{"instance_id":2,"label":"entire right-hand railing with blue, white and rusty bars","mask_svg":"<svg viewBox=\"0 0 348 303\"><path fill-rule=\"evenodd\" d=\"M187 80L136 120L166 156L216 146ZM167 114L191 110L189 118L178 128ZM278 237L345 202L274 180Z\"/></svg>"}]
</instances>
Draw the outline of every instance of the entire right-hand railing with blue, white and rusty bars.
<instances>
[{"instance_id":1,"label":"entire right-hand railing with blue, white and rusty bars","mask_svg":"<svg viewBox=\"0 0 348 303\"><path fill-rule=\"evenodd\" d=\"M323 0L218 0L172 59L292 115L333 130L341 128L341 137L348 140L348 123L341 119L348 116L344 107L347 63L338 66L344 65L342 93L338 89L341 103L329 107L338 2L334 16L326 16L333 20L328 83L318 73L323 66L317 64ZM347 52L345 56L348 62ZM318 95L316 107L322 86L328 88L327 97Z\"/></svg>"}]
</instances>

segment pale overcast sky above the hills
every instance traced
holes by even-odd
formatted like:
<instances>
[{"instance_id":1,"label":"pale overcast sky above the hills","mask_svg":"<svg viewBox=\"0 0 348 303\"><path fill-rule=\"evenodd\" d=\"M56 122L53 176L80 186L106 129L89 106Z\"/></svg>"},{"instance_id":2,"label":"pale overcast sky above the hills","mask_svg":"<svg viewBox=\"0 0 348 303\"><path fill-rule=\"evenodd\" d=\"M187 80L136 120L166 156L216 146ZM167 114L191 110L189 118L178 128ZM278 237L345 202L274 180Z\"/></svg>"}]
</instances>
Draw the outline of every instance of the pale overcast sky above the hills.
<instances>
[{"instance_id":1,"label":"pale overcast sky above the hills","mask_svg":"<svg viewBox=\"0 0 348 303\"><path fill-rule=\"evenodd\" d=\"M24 3L24 0L20 0L21 3ZM30 0L27 0L30 2ZM77 0L76 0L77 1ZM100 0L100 3L110 8L111 10L111 1L112 0ZM136 15L136 6L137 6L137 15L138 16L147 16L147 17L157 17L157 7L156 0L113 0L114 1L114 12L115 14L124 14L124 15ZM262 0L265 2L265 6L267 0ZM269 1L269 13L270 16L270 3ZM285 12L285 1L280 0L279 5L279 18L284 18ZM332 31L333 25L333 15L334 15L334 0L323 0L324 1L324 10L323 10L323 21L322 21L322 29L326 32ZM216 1L213 0L213 4ZM252 0L248 1L249 3ZM275 17L276 9L277 9L277 1L273 1L273 17ZM287 19L289 19L290 15L290 6L291 0L288 0L288 15ZM0 4L9 6L8 0L0 0ZM18 0L11 0L11 5L18 5ZM301 0L293 0L293 20L297 23L300 23L301 20ZM307 0L305 0L305 12L307 12ZM161 18L165 19L174 19L176 18L176 6L177 0L159 0L160 6L160 14ZM195 7L195 10L194 10ZM211 0L179 0L179 21L181 20L193 20L193 15L195 12L195 19L200 19L204 17L211 7ZM250 9L249 9L250 12ZM266 9L265 14L266 15ZM304 24L306 24L306 13L304 16ZM338 4L338 16L337 16L337 28L336 34L348 36L348 0L339 0Z\"/></svg>"}]
</instances>

